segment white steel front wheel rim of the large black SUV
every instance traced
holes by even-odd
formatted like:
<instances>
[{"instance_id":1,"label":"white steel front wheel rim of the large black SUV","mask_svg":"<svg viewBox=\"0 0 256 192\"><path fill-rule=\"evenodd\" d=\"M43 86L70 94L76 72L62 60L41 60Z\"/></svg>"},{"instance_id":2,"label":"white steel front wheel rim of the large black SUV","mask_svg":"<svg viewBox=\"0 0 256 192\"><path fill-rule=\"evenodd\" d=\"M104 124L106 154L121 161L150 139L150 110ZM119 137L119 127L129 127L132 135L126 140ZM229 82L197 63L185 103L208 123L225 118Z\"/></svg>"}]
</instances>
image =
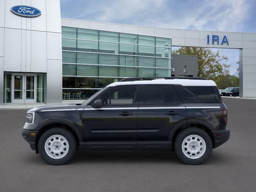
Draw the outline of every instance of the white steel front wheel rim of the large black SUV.
<instances>
[{"instance_id":1,"label":"white steel front wheel rim of the large black SUV","mask_svg":"<svg viewBox=\"0 0 256 192\"><path fill-rule=\"evenodd\" d=\"M52 135L44 144L46 154L53 159L60 159L68 153L68 140L62 135Z\"/></svg>"}]
</instances>

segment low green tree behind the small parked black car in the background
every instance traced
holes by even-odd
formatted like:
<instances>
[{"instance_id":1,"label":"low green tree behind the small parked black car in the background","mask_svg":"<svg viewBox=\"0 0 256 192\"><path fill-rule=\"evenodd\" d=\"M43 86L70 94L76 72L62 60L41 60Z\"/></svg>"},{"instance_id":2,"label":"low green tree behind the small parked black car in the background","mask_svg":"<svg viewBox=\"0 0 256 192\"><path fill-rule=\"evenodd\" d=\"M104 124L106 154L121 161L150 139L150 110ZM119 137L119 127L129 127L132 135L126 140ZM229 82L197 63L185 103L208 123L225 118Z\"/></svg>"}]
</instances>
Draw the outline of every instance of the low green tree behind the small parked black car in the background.
<instances>
[{"instance_id":1,"label":"low green tree behind the small parked black car in the background","mask_svg":"<svg viewBox=\"0 0 256 192\"><path fill-rule=\"evenodd\" d=\"M239 87L239 78L234 75L219 75L212 80L215 81L219 89L226 89L227 87Z\"/></svg>"}]
</instances>

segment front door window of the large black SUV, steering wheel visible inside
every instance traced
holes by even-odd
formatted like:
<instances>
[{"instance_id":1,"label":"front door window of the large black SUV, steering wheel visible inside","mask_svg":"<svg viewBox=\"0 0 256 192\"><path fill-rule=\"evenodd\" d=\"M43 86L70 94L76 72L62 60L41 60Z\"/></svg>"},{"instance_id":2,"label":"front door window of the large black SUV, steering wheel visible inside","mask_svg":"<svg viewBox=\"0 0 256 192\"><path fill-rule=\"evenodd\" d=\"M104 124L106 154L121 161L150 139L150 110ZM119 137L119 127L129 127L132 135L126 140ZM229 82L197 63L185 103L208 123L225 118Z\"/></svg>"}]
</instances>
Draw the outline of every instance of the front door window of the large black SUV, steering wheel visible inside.
<instances>
[{"instance_id":1,"label":"front door window of the large black SUV, steering wheel visible inside","mask_svg":"<svg viewBox=\"0 0 256 192\"><path fill-rule=\"evenodd\" d=\"M137 86L119 86L111 89L101 97L103 105L108 106L130 106L133 105Z\"/></svg>"}]
</instances>

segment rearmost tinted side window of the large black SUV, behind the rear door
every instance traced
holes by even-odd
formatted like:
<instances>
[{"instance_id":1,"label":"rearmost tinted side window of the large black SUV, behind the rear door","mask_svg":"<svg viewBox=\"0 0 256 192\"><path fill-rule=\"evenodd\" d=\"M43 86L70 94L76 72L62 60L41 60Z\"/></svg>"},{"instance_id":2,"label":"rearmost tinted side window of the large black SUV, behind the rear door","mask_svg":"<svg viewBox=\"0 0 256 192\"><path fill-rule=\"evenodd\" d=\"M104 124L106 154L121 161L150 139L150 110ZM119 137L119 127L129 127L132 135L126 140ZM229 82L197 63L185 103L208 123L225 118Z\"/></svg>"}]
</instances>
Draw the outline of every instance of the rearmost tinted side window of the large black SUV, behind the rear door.
<instances>
[{"instance_id":1,"label":"rearmost tinted side window of the large black SUV, behind the rear door","mask_svg":"<svg viewBox=\"0 0 256 192\"><path fill-rule=\"evenodd\" d=\"M211 86L174 85L183 103L217 103Z\"/></svg>"}]
</instances>

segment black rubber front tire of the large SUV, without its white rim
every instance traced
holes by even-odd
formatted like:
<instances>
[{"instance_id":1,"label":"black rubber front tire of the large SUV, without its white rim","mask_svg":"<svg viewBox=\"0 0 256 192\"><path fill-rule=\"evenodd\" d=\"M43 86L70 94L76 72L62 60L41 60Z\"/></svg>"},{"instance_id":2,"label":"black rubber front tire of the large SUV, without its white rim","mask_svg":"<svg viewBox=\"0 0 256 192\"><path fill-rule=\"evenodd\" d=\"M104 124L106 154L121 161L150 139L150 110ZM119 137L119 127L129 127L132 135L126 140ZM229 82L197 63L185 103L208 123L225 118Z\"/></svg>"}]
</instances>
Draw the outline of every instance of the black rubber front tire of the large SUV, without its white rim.
<instances>
[{"instance_id":1,"label":"black rubber front tire of the large SUV, without its white rim","mask_svg":"<svg viewBox=\"0 0 256 192\"><path fill-rule=\"evenodd\" d=\"M68 153L60 159L53 159L50 156L48 156L47 153L45 152L44 144L45 144L46 140L49 137L51 137L52 135L61 135L61 136L65 137L68 141L68 146L69 146ZM73 134L71 132L69 132L68 130L61 128L61 127L52 128L52 129L44 132L38 141L38 152L39 152L41 158L46 163L52 164L52 165L62 165L62 164L68 163L74 156L74 154L76 152L76 147L77 147L77 144L76 144L76 140L75 140L75 137L73 136Z\"/></svg>"}]
</instances>

